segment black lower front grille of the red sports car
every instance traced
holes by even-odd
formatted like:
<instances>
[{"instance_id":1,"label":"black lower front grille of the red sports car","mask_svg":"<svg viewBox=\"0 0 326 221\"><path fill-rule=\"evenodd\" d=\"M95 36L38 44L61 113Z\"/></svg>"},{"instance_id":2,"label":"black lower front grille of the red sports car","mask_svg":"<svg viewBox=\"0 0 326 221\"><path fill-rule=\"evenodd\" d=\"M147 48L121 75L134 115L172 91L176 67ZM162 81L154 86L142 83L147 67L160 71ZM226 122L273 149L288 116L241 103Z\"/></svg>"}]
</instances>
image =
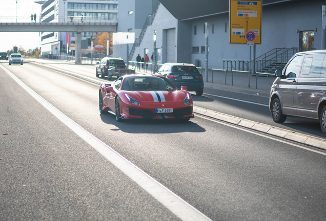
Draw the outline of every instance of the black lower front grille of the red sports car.
<instances>
[{"instance_id":1,"label":"black lower front grille of the red sports car","mask_svg":"<svg viewBox=\"0 0 326 221\"><path fill-rule=\"evenodd\" d=\"M156 115L160 115L157 113L152 113L149 110L144 109L136 109L136 108L127 108L129 115L132 116L141 116L141 118L154 118ZM182 109L176 109L173 113L161 113L172 115L174 118L183 118L185 115L192 114L192 107L186 107Z\"/></svg>"}]
</instances>

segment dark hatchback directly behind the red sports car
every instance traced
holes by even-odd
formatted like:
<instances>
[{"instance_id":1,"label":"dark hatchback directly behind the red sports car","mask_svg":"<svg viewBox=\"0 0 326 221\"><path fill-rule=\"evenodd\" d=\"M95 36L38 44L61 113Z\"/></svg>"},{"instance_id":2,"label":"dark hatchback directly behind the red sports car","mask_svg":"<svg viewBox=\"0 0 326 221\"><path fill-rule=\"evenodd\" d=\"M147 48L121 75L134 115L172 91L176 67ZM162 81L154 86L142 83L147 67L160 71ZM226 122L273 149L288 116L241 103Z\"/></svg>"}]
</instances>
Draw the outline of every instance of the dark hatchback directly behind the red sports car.
<instances>
[{"instance_id":1,"label":"dark hatchback directly behind the red sports car","mask_svg":"<svg viewBox=\"0 0 326 221\"><path fill-rule=\"evenodd\" d=\"M202 95L204 86L202 75L193 64L165 63L159 68L157 74L169 78L179 90L181 86L187 86L187 91Z\"/></svg>"}]
</instances>

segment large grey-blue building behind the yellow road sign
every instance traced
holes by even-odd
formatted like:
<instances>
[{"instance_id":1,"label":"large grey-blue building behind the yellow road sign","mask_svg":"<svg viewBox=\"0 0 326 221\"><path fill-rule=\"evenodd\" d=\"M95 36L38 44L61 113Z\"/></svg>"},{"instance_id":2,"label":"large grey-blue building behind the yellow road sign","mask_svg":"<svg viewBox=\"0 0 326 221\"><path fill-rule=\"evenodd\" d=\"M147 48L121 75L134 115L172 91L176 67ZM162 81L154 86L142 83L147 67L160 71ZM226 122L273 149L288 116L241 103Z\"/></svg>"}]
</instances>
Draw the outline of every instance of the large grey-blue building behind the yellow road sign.
<instances>
[{"instance_id":1,"label":"large grey-blue building behind the yellow road sign","mask_svg":"<svg viewBox=\"0 0 326 221\"><path fill-rule=\"evenodd\" d=\"M153 22L146 27L141 42L137 42L139 27L146 23L149 1L120 0L118 31L135 32L134 53L129 60L136 60L148 49L154 52L153 33L156 30L156 51L160 63L187 62L205 66L205 23L209 24L209 68L222 69L223 59L249 60L252 47L229 43L229 0L159 0L160 5ZM142 4L142 5L141 5ZM120 6L129 8L121 9ZM256 57L276 53L277 49L321 49L322 5L324 1L262 1L261 45L256 46ZM153 6L153 3L152 3ZM128 14L129 11L132 14ZM136 16L142 13L142 16ZM135 16L133 16L133 14ZM121 28L119 28L121 27ZM143 30L144 31L144 30ZM140 31L141 33L141 31ZM133 44L129 45L132 49ZM284 51L284 50L283 50ZM113 47L114 56L125 55L126 47ZM290 53L290 50L287 51ZM279 53L280 54L280 53ZM251 58L253 52L251 52ZM289 57L289 55L288 55ZM291 57L291 56L290 56ZM225 63L226 64L226 63ZM238 64L236 64L238 65ZM241 64L240 64L241 65ZM226 68L226 67L225 67Z\"/></svg>"}]
</instances>

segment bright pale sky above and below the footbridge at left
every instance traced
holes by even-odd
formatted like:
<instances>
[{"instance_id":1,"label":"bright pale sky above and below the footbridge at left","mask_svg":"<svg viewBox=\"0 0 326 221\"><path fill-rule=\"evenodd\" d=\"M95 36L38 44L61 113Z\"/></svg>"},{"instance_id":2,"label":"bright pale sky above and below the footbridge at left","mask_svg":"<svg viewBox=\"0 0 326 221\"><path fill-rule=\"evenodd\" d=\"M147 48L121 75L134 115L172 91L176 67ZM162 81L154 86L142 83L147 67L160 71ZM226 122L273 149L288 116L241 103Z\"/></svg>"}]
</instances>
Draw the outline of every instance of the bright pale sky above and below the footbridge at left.
<instances>
[{"instance_id":1,"label":"bright pale sky above and below the footbridge at left","mask_svg":"<svg viewBox=\"0 0 326 221\"><path fill-rule=\"evenodd\" d=\"M17 4L16 4L17 2ZM0 22L30 21L31 14L36 13L36 21L39 21L41 5L36 4L33 0L0 0ZM27 22L27 21L25 21ZM0 32L0 51L7 51L13 46L22 46L26 51L40 47L38 32Z\"/></svg>"}]
</instances>

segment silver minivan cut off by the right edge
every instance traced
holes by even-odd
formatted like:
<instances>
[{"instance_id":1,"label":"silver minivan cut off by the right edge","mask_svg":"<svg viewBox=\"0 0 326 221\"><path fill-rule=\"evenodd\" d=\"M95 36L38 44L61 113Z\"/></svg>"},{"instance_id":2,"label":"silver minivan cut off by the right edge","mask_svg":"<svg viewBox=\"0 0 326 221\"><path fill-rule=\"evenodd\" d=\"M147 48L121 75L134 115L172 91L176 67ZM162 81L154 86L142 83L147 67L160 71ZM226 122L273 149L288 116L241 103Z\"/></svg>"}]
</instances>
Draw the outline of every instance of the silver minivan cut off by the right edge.
<instances>
[{"instance_id":1,"label":"silver minivan cut off by the right edge","mask_svg":"<svg viewBox=\"0 0 326 221\"><path fill-rule=\"evenodd\" d=\"M295 54L284 67L276 70L270 111L274 122L287 116L320 121L326 134L326 50Z\"/></svg>"}]
</instances>

